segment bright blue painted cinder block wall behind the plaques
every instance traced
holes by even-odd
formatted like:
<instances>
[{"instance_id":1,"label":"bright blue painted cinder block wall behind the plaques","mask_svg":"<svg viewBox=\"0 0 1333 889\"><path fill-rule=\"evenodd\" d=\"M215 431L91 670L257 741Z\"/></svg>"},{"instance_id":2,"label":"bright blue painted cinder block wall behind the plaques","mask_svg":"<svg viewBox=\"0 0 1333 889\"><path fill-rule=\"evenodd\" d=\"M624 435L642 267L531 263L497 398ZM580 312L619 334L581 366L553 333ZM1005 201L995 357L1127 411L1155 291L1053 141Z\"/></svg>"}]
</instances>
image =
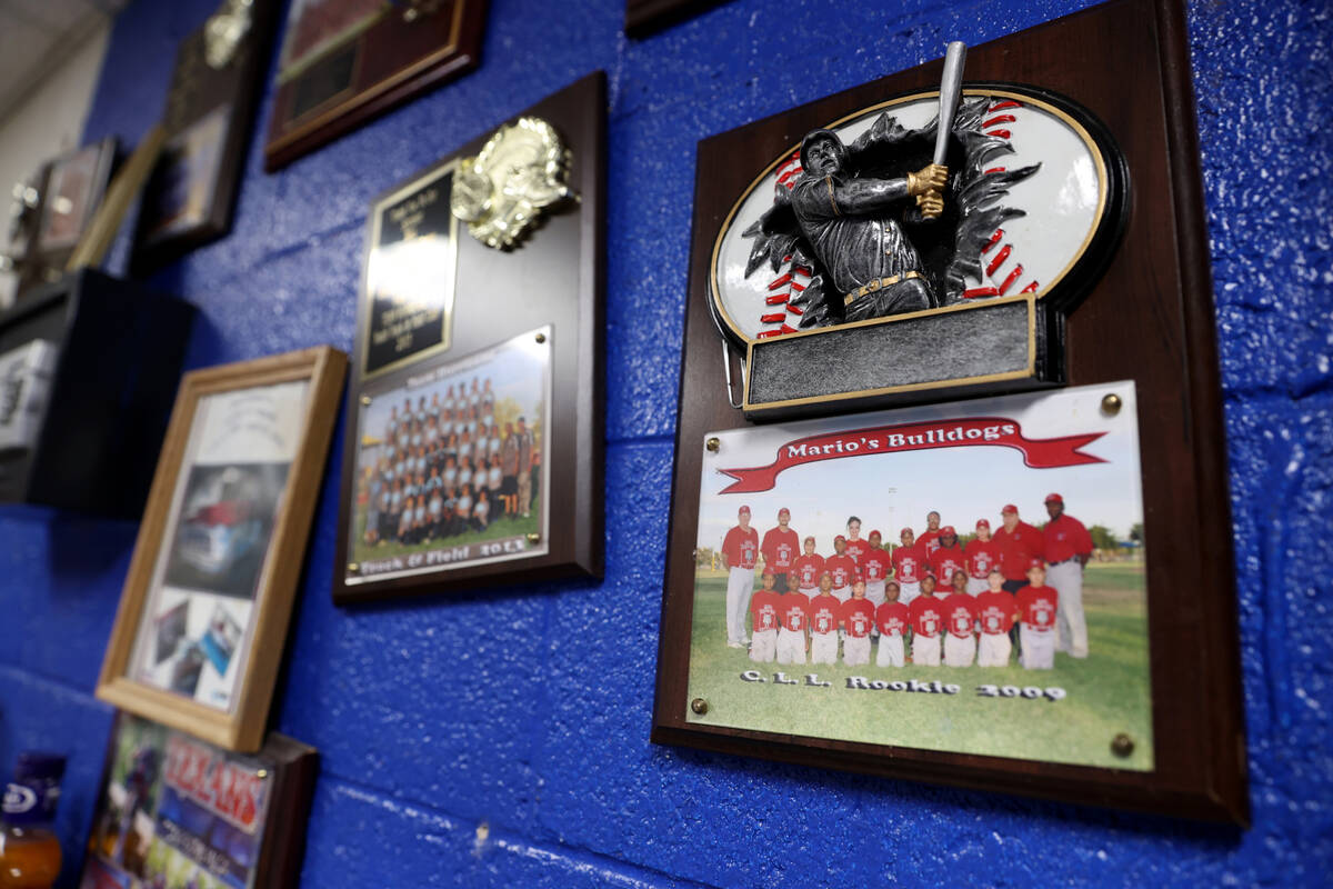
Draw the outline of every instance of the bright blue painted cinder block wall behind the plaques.
<instances>
[{"instance_id":1,"label":"bright blue painted cinder block wall behind the plaques","mask_svg":"<svg viewBox=\"0 0 1333 889\"><path fill-rule=\"evenodd\" d=\"M192 368L351 349L371 199L589 71L609 75L607 580L333 608L333 446L275 704L276 726L323 753L303 886L1333 882L1326 3L1189 8L1253 829L648 742L694 143L938 56L948 39L1082 5L733 0L631 41L624 0L492 0L477 72L275 176L256 136L233 233L156 279L201 309ZM129 5L87 139L148 129L177 43L212 7ZM260 132L268 113L265 100ZM124 257L123 239L113 269ZM29 746L72 752L59 826L75 861L111 721L92 690L135 532L0 510L0 768Z\"/></svg>"}]
</instances>

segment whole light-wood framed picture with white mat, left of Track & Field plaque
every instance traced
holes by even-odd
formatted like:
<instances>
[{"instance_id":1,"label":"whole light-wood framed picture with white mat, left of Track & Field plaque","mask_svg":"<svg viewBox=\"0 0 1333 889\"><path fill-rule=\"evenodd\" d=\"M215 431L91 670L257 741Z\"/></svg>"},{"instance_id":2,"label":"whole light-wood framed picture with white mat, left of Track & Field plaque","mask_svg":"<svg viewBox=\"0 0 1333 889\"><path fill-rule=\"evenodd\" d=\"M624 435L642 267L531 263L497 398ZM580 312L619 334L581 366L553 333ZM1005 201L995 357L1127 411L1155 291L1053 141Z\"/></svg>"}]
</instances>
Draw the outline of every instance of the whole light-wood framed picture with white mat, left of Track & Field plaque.
<instances>
[{"instance_id":1,"label":"whole light-wood framed picture with white mat, left of Track & Field plaque","mask_svg":"<svg viewBox=\"0 0 1333 889\"><path fill-rule=\"evenodd\" d=\"M259 748L345 367L319 347L185 375L100 698Z\"/></svg>"}]
</instances>

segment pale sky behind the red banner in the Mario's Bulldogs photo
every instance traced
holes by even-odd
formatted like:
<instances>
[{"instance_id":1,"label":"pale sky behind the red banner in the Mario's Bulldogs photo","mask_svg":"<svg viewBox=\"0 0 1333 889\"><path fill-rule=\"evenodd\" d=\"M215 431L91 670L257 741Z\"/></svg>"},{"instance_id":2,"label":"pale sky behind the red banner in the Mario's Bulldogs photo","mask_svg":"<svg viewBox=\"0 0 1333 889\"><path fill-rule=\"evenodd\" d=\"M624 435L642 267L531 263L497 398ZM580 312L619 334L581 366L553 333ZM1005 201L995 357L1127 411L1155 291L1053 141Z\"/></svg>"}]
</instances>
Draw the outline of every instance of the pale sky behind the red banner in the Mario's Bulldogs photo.
<instances>
[{"instance_id":1,"label":"pale sky behind the red banner in the Mario's Bulldogs photo","mask_svg":"<svg viewBox=\"0 0 1333 889\"><path fill-rule=\"evenodd\" d=\"M1116 392L1125 407L1114 419L1100 412L1104 395ZM1005 417L1020 423L1028 439L1105 432L1082 453L1106 462L1033 469L1022 453L1008 446L968 445L897 453L876 453L824 460L792 466L777 476L772 490L720 493L733 482L720 468L750 468L773 462L781 445L821 432L860 429L900 423L921 423L973 416ZM698 545L721 545L745 504L753 512L750 525L762 534L777 524L777 510L792 510L792 529L802 538L814 534L817 552L833 552L833 536L846 533L846 520L861 518L861 536L872 529L897 542L910 526L925 530L925 516L936 510L941 525L953 525L960 536L974 530L978 518L1000 525L1005 504L1018 506L1024 521L1046 521L1044 500L1058 492L1066 512L1085 525L1105 525L1120 540L1142 521L1138 472L1136 405L1132 384L1082 387L1040 396L1009 396L954 405L858 415L826 421L754 427L718 433L722 446L706 454L702 473L702 508Z\"/></svg>"}]
</instances>

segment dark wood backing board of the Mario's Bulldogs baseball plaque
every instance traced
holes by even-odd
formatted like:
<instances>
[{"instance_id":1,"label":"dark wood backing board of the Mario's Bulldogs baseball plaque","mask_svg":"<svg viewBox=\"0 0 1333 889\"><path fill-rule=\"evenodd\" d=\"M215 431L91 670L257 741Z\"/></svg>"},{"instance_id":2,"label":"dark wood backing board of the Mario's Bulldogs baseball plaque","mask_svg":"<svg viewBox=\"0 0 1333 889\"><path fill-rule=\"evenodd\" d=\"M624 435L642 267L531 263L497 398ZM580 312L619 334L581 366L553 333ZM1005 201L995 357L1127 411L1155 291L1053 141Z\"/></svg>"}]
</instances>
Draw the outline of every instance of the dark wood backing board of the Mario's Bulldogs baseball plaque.
<instances>
[{"instance_id":1,"label":"dark wood backing board of the Mario's Bulldogs baseball plaque","mask_svg":"<svg viewBox=\"0 0 1333 889\"><path fill-rule=\"evenodd\" d=\"M704 437L758 428L729 404L718 329L709 313L717 232L756 172L805 132L890 96L937 89L940 61L700 143L655 742L1248 822L1216 323L1181 5L1114 0L974 47L966 61L966 81L1025 83L1069 96L1106 125L1126 160L1130 209L1122 241L1062 321L1064 381L1084 387L1125 380L1138 393L1152 768L1033 761L1018 758L1017 749L1010 758L741 730L690 714ZM758 524L762 533L766 525Z\"/></svg>"}]
</instances>

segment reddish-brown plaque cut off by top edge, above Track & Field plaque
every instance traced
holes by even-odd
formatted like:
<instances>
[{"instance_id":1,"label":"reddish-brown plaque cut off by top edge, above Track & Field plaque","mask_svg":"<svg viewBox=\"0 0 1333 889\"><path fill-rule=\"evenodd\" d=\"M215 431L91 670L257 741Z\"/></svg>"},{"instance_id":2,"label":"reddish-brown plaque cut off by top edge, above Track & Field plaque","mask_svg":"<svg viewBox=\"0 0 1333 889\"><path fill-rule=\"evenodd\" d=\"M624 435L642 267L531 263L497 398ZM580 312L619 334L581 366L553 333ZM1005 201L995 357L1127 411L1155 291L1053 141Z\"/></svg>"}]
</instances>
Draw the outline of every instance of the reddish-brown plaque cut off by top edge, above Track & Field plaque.
<instances>
[{"instance_id":1,"label":"reddish-brown plaque cut off by top edge, above Track & Field plaque","mask_svg":"<svg viewBox=\"0 0 1333 889\"><path fill-rule=\"evenodd\" d=\"M480 64L485 0L293 0L264 147L269 172Z\"/></svg>"}]
</instances>

